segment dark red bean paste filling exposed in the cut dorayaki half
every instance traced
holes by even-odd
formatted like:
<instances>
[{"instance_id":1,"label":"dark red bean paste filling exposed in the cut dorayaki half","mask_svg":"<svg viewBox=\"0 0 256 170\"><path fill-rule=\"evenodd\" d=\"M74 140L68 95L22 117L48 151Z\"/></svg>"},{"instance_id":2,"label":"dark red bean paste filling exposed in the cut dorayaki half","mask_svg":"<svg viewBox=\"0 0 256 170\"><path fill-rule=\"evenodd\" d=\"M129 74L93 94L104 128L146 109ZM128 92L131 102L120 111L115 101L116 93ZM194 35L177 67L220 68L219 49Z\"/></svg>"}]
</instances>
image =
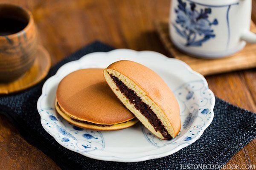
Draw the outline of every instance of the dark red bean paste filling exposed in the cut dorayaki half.
<instances>
[{"instance_id":1,"label":"dark red bean paste filling exposed in the cut dorayaki half","mask_svg":"<svg viewBox=\"0 0 256 170\"><path fill-rule=\"evenodd\" d=\"M148 119L148 122L154 127L154 130L159 131L165 139L172 139L172 136L167 132L162 122L160 119L158 119L157 115L152 111L150 106L145 104L140 97L137 96L133 90L129 89L121 80L111 74L109 75L121 93L125 95L125 97L129 99L129 102Z\"/></svg>"}]
</instances>

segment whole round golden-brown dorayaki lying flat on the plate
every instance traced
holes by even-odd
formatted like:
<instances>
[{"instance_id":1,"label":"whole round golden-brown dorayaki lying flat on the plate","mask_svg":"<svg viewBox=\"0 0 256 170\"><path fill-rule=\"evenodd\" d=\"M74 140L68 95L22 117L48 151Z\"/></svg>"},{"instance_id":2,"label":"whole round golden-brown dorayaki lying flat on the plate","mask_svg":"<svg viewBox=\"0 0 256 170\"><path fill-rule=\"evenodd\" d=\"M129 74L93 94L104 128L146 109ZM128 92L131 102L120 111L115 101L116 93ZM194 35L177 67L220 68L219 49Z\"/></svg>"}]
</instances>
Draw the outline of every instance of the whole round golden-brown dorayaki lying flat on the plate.
<instances>
[{"instance_id":1,"label":"whole round golden-brown dorayaki lying flat on the plate","mask_svg":"<svg viewBox=\"0 0 256 170\"><path fill-rule=\"evenodd\" d=\"M119 130L138 122L109 88L103 69L74 71L64 77L56 92L56 111L68 122L94 130Z\"/></svg>"}]
</instances>

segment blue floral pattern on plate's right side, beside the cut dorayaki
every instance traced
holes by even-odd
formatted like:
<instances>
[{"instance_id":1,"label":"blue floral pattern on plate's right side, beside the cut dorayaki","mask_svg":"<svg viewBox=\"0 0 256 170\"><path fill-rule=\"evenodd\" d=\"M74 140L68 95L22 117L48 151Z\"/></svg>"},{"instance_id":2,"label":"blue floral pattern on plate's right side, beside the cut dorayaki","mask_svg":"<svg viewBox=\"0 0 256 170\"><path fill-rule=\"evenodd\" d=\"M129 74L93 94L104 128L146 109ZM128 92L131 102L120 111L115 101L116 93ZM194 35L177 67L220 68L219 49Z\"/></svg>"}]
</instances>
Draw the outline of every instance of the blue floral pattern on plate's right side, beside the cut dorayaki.
<instances>
[{"instance_id":1,"label":"blue floral pattern on plate's right side, beside the cut dorayaki","mask_svg":"<svg viewBox=\"0 0 256 170\"><path fill-rule=\"evenodd\" d=\"M181 130L182 134L178 134L175 139L166 141L161 140L149 132L144 126L142 131L149 143L155 147L163 147L168 144L184 144L203 130L205 121L212 118L212 110L209 106L214 101L214 96L209 93L207 86L203 81L189 82L181 85L175 91L175 96L180 105ZM193 125L195 119L201 119L200 124ZM182 139L180 139L182 138ZM176 142L178 140L178 142Z\"/></svg>"}]
</instances>

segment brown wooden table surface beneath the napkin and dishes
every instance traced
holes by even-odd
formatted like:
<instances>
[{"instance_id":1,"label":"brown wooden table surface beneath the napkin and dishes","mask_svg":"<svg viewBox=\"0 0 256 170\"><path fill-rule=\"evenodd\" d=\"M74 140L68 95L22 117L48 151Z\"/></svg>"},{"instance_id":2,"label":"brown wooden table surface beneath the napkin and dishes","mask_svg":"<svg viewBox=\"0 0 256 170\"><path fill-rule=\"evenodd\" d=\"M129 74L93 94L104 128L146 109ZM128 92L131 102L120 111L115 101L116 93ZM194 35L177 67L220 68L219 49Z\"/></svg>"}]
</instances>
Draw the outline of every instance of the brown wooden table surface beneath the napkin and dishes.
<instances>
[{"instance_id":1,"label":"brown wooden table surface beneath the napkin and dishes","mask_svg":"<svg viewBox=\"0 0 256 170\"><path fill-rule=\"evenodd\" d=\"M94 40L115 48L151 50L168 55L153 21L169 15L170 0L8 0L32 11L41 41L52 64ZM253 21L256 1L253 0ZM256 70L206 77L221 99L256 112ZM228 164L256 164L256 140ZM255 165L256 166L256 165ZM27 143L6 117L0 116L0 169L60 169L49 157Z\"/></svg>"}]
</instances>

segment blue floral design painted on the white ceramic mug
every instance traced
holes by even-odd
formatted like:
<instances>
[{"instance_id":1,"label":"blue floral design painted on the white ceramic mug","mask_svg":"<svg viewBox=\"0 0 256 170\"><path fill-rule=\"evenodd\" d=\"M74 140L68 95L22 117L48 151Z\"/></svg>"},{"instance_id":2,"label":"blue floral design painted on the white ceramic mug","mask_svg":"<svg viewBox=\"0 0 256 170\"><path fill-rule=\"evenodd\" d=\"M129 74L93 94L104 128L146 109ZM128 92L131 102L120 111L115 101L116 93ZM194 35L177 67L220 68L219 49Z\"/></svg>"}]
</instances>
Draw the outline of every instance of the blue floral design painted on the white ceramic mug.
<instances>
[{"instance_id":1,"label":"blue floral design painted on the white ceramic mug","mask_svg":"<svg viewBox=\"0 0 256 170\"><path fill-rule=\"evenodd\" d=\"M211 8L196 9L195 3L177 0L178 6L175 8L177 14L175 23L172 23L177 34L186 39L186 46L201 46L204 42L215 38L212 26L218 25L218 20L210 21Z\"/></svg>"}]
</instances>

